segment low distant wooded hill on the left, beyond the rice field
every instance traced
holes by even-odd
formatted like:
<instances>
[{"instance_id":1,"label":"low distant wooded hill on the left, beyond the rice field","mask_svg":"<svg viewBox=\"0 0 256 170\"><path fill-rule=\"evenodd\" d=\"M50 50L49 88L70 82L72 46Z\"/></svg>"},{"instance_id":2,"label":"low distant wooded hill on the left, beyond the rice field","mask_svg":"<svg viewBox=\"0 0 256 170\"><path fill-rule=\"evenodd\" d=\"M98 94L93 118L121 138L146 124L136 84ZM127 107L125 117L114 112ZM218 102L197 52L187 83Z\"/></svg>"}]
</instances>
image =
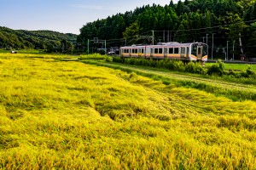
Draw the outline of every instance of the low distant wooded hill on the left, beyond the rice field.
<instances>
[{"instance_id":1,"label":"low distant wooded hill on the left, beyond the rice field","mask_svg":"<svg viewBox=\"0 0 256 170\"><path fill-rule=\"evenodd\" d=\"M12 30L0 26L0 48L35 48L45 52L69 52L77 35L56 31Z\"/></svg>"}]
</instances>

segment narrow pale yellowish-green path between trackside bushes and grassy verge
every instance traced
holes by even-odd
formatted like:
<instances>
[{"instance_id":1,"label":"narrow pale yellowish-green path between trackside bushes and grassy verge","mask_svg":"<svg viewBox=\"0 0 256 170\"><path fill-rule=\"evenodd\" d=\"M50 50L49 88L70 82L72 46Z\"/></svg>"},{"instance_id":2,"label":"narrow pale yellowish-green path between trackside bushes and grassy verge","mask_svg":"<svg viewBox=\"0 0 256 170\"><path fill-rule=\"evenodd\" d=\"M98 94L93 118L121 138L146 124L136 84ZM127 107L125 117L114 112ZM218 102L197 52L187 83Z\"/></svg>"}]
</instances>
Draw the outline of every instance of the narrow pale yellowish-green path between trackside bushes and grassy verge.
<instances>
[{"instance_id":1,"label":"narrow pale yellowish-green path between trackside bushes and grassy verge","mask_svg":"<svg viewBox=\"0 0 256 170\"><path fill-rule=\"evenodd\" d=\"M238 82L224 82L220 80L213 80L213 79L208 79L204 77L193 77L189 75L181 75L173 72L166 72L166 71L152 71L147 68L138 68L136 65L124 65L124 64L119 64L119 63L106 63L106 62L100 62L100 61L90 61L89 63L92 64L97 64L97 65L102 65L102 66L108 66L112 68L123 68L126 70L131 70L131 71L136 71L138 73L145 73L145 74L154 74L156 76L160 77L166 77L169 79L173 80L180 80L180 81L190 81L190 82L199 82L199 83L205 83L209 85L216 86L218 88L232 88L232 89L237 89L237 90L247 90L252 92L253 94L256 94L256 86L254 85L247 85L247 84L242 84Z\"/></svg>"}]
</instances>

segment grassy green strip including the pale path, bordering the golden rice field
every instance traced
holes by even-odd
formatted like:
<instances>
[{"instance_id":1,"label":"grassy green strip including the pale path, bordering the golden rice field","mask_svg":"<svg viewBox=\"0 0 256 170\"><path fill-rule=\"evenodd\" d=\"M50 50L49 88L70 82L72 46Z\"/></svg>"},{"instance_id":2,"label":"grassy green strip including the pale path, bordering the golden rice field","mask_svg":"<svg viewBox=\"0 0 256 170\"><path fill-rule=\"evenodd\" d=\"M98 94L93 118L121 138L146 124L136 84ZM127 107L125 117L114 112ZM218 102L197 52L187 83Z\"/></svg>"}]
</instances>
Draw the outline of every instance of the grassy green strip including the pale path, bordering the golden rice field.
<instances>
[{"instance_id":1,"label":"grassy green strip including the pale path, bordering the golden rice field","mask_svg":"<svg viewBox=\"0 0 256 170\"><path fill-rule=\"evenodd\" d=\"M153 78L154 80L162 81L165 84L172 84L176 87L196 88L208 93L213 93L217 96L233 99L234 101L248 99L256 100L256 86L242 83L247 81L246 78L236 78L237 82L230 82L230 80L225 81L222 77L209 77L140 65L125 65L98 59L84 59L82 62L92 65L107 66L126 72L133 71L138 75Z\"/></svg>"}]
</instances>

